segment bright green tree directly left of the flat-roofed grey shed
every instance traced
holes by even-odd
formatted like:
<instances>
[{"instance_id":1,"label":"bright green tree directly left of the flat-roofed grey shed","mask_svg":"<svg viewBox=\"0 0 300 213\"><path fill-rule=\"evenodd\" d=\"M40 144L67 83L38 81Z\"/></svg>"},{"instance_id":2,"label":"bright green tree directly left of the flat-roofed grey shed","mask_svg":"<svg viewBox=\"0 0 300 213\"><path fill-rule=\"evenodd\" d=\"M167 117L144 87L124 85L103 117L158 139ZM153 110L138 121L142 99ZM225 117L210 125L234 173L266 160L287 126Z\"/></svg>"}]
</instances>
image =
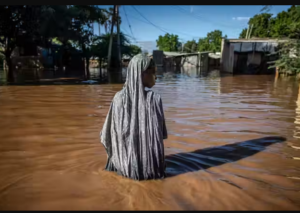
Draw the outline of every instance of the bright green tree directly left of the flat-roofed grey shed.
<instances>
[{"instance_id":1,"label":"bright green tree directly left of the flat-roofed grey shed","mask_svg":"<svg viewBox=\"0 0 300 213\"><path fill-rule=\"evenodd\" d=\"M227 38L227 35L224 36ZM221 51L221 43L222 43L222 31L214 30L212 32L207 33L205 38L200 38L198 42L199 51L212 51L212 52L220 52Z\"/></svg>"}]
</instances>

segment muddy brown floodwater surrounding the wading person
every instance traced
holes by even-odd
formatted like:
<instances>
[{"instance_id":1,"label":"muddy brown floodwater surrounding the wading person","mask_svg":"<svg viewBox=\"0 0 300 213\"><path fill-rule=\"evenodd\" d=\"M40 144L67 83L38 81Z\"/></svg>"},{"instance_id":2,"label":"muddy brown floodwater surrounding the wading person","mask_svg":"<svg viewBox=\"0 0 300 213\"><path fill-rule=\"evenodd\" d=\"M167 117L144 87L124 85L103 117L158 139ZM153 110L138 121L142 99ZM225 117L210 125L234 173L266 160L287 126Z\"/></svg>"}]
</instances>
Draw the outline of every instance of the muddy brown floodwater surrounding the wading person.
<instances>
[{"instance_id":1,"label":"muddy brown floodwater surrounding the wading person","mask_svg":"<svg viewBox=\"0 0 300 213\"><path fill-rule=\"evenodd\" d=\"M0 210L300 209L295 80L160 73L168 177L142 182L103 171L121 88L0 87Z\"/></svg>"}]
</instances>

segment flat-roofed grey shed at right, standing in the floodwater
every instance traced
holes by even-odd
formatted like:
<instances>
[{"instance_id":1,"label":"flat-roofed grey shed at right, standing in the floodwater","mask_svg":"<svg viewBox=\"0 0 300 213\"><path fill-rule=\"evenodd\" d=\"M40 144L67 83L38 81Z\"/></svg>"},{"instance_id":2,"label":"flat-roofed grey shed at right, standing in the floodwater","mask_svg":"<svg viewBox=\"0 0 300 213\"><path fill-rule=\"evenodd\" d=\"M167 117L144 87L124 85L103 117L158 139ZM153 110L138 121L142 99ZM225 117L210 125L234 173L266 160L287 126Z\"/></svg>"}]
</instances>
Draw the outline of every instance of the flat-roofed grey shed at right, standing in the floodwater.
<instances>
[{"instance_id":1,"label":"flat-roofed grey shed at right, standing in the floodwater","mask_svg":"<svg viewBox=\"0 0 300 213\"><path fill-rule=\"evenodd\" d=\"M222 39L221 71L232 74L270 74L269 63L277 59L277 47L287 40Z\"/></svg>"}]
</instances>

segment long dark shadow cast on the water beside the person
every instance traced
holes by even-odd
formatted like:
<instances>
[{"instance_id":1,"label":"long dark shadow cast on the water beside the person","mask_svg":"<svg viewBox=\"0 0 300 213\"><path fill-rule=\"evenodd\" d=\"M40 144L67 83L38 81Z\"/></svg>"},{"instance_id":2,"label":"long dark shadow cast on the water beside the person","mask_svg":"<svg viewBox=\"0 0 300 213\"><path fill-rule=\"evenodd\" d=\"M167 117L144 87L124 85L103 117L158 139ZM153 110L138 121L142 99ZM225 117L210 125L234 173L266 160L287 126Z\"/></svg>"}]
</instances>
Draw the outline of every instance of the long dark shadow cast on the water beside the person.
<instances>
[{"instance_id":1,"label":"long dark shadow cast on the water beside the person","mask_svg":"<svg viewBox=\"0 0 300 213\"><path fill-rule=\"evenodd\" d=\"M166 175L174 177L188 172L196 172L225 163L235 162L255 155L275 143L284 142L284 137L264 137L224 146L199 149L193 152L166 156Z\"/></svg>"}]
</instances>

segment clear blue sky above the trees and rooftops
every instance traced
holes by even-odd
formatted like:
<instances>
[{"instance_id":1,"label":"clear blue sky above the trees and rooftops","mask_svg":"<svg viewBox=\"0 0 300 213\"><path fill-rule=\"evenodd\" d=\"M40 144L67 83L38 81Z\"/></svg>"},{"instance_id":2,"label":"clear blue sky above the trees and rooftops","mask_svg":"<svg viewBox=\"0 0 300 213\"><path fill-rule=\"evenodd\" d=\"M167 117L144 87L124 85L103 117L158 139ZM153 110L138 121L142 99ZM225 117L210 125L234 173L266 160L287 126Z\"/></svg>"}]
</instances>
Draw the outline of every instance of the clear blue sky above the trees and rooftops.
<instances>
[{"instance_id":1,"label":"clear blue sky above the trees and rooftops","mask_svg":"<svg viewBox=\"0 0 300 213\"><path fill-rule=\"evenodd\" d=\"M113 5L99 5L109 8ZM287 10L290 5L272 6L269 13ZM152 52L157 49L160 35L176 34L180 42L206 37L208 32L221 30L228 38L238 38L247 27L248 20L260 13L262 5L122 5L120 7L121 31L133 44ZM105 32L100 28L101 33ZM99 34L98 25L94 27Z\"/></svg>"}]
</instances>

